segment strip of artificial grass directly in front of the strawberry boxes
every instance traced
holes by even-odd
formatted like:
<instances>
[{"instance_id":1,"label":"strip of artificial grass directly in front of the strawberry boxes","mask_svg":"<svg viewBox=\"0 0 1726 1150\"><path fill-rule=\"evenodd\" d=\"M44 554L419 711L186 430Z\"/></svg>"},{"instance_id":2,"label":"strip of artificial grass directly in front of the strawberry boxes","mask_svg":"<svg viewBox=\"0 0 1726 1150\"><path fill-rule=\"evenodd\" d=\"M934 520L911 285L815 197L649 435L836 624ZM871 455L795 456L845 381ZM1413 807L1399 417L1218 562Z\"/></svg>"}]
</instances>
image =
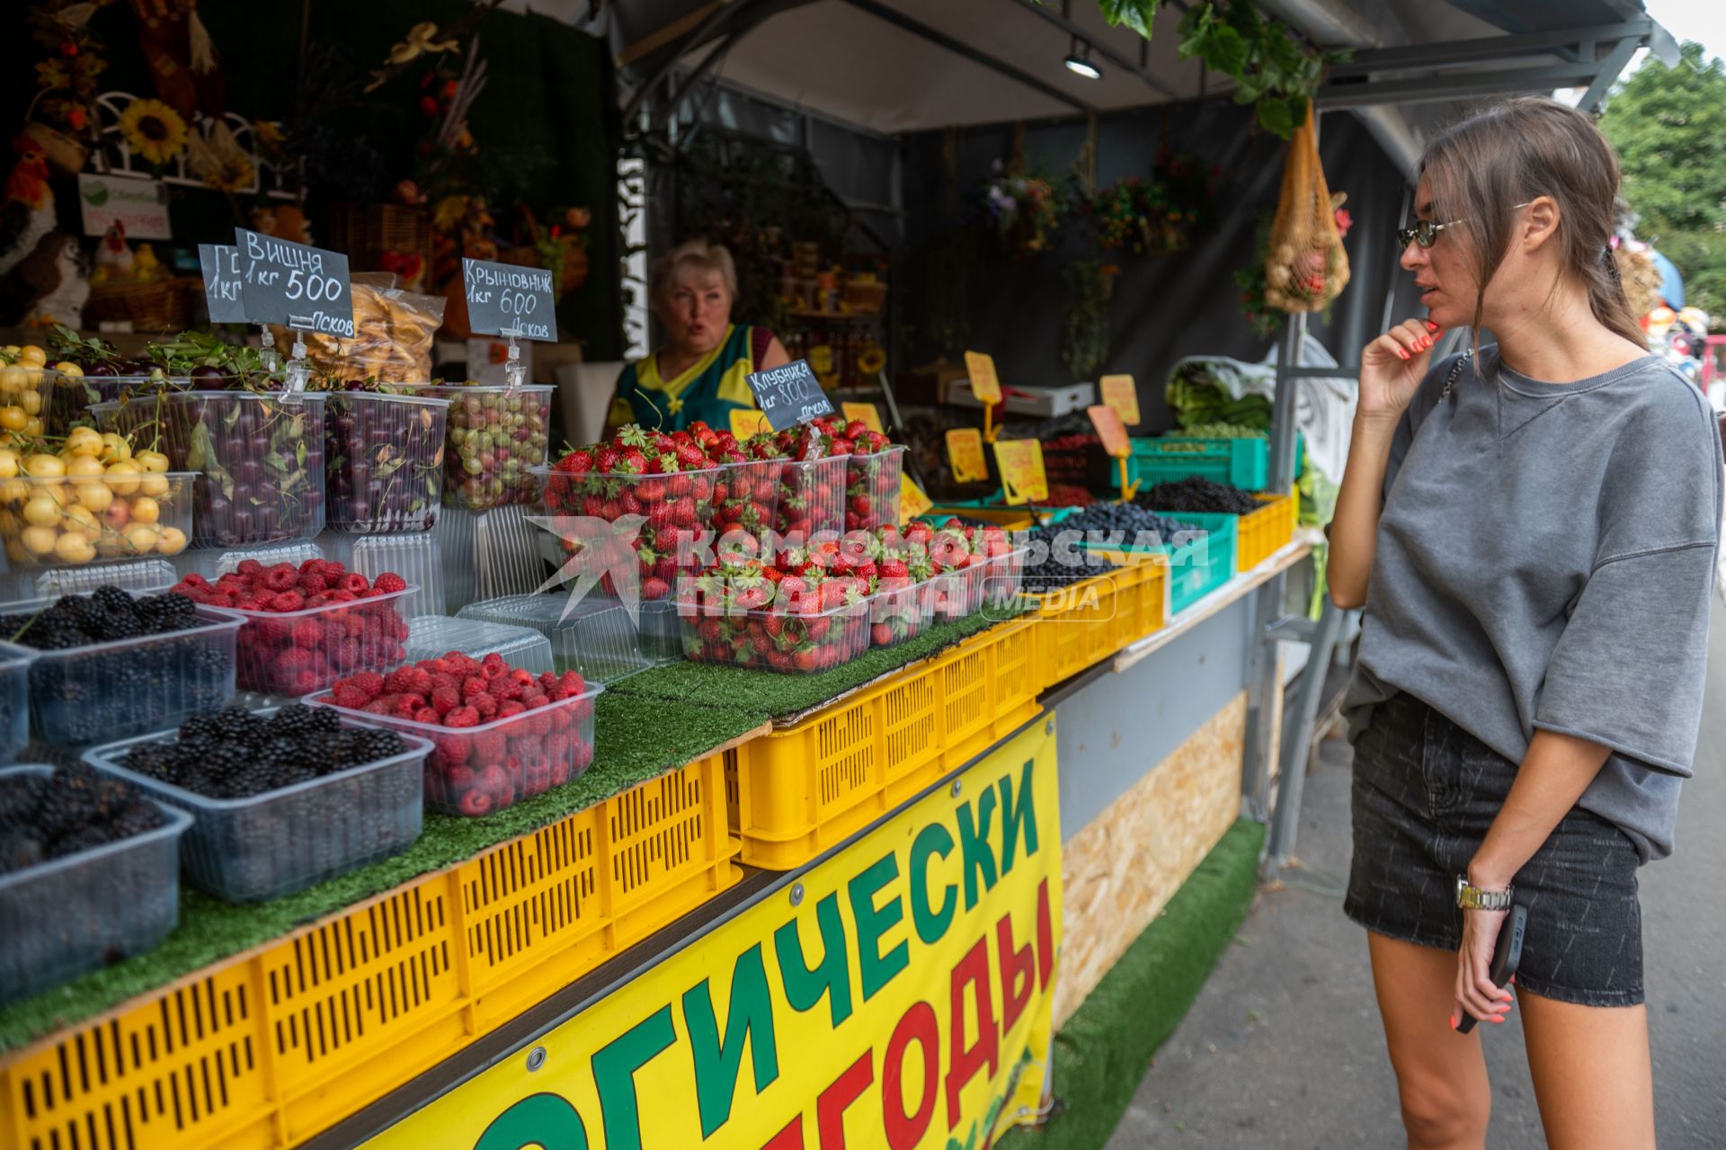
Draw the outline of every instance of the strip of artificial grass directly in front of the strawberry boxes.
<instances>
[{"instance_id":1,"label":"strip of artificial grass directly in front of the strawberry boxes","mask_svg":"<svg viewBox=\"0 0 1726 1150\"><path fill-rule=\"evenodd\" d=\"M773 718L784 718L822 706L846 691L899 670L906 663L939 654L960 639L967 639L999 622L1003 620L987 615L967 615L961 620L930 627L896 648L877 648L849 663L813 675L780 675L747 667L718 667L715 663L680 660L639 675L630 675L616 686L616 691L661 699L683 699L704 706L737 706L739 703L747 703Z\"/></svg>"}]
</instances>

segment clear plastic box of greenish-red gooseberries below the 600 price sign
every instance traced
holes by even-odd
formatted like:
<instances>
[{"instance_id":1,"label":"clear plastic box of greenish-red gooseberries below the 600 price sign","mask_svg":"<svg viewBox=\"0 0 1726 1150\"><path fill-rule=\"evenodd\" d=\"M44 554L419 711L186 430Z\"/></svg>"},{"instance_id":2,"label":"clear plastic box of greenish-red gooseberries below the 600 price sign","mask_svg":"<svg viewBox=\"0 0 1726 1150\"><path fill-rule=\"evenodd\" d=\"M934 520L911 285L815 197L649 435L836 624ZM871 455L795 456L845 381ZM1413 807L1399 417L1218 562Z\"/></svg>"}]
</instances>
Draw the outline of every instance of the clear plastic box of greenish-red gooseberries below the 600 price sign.
<instances>
[{"instance_id":1,"label":"clear plastic box of greenish-red gooseberries below the 600 price sign","mask_svg":"<svg viewBox=\"0 0 1726 1150\"><path fill-rule=\"evenodd\" d=\"M551 435L549 383L518 389L425 383L413 394L447 399L444 502L469 511L539 496L532 468L545 464Z\"/></svg>"}]
</instances>

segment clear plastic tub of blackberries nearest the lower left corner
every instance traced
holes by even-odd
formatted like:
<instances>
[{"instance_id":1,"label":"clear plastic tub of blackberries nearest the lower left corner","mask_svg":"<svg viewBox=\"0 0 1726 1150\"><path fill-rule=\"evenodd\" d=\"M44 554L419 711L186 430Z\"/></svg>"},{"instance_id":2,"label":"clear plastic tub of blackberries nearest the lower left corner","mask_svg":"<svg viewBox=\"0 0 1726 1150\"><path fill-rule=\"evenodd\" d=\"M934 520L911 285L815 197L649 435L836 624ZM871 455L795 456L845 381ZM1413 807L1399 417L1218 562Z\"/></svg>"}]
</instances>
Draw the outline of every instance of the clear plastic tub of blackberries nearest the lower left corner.
<instances>
[{"instance_id":1,"label":"clear plastic tub of blackberries nearest the lower left corner","mask_svg":"<svg viewBox=\"0 0 1726 1150\"><path fill-rule=\"evenodd\" d=\"M50 774L3 767L0 786ZM154 831L0 874L0 1003L142 955L180 924L178 844L192 817L157 806Z\"/></svg>"}]
</instances>

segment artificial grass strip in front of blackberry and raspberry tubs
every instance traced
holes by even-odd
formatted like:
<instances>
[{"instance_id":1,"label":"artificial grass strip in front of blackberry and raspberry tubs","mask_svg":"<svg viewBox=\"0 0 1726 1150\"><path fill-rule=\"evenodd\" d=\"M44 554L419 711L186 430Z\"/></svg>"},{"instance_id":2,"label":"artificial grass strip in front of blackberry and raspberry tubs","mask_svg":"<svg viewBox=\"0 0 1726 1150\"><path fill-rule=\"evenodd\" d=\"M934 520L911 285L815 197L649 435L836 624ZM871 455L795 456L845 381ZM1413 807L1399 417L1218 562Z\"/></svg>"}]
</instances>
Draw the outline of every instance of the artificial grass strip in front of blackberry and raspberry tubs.
<instances>
[{"instance_id":1,"label":"artificial grass strip in front of blackberry and raspberry tubs","mask_svg":"<svg viewBox=\"0 0 1726 1150\"><path fill-rule=\"evenodd\" d=\"M180 926L161 946L0 1007L0 1052L281 938L409 879L473 858L488 846L557 822L683 767L765 722L765 711L744 710L737 703L715 710L689 701L606 691L594 703L594 765L580 779L487 818L426 812L425 831L400 855L274 901L231 907L181 882Z\"/></svg>"}]
</instances>

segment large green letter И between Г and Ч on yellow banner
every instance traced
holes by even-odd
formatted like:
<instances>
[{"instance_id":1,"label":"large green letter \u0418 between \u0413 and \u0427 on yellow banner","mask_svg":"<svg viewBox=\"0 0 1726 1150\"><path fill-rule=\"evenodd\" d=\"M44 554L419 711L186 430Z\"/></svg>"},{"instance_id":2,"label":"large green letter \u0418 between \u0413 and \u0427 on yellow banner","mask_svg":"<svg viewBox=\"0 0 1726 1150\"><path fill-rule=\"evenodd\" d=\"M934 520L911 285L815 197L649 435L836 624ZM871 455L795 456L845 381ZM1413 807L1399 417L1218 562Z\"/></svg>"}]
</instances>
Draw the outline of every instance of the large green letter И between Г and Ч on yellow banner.
<instances>
[{"instance_id":1,"label":"large green letter \u0418 between \u0413 and \u0427 on yellow banner","mask_svg":"<svg viewBox=\"0 0 1726 1150\"><path fill-rule=\"evenodd\" d=\"M744 1064L744 1039L754 1067L756 1093L778 1079L778 1046L773 1039L773 998L766 989L761 943L737 955L732 964L732 1000L725 1012L725 1041L713 1017L713 989L708 979L683 991L683 1026L696 1060L696 1102L701 1109L701 1136L732 1117L737 1072Z\"/></svg>"}]
</instances>

